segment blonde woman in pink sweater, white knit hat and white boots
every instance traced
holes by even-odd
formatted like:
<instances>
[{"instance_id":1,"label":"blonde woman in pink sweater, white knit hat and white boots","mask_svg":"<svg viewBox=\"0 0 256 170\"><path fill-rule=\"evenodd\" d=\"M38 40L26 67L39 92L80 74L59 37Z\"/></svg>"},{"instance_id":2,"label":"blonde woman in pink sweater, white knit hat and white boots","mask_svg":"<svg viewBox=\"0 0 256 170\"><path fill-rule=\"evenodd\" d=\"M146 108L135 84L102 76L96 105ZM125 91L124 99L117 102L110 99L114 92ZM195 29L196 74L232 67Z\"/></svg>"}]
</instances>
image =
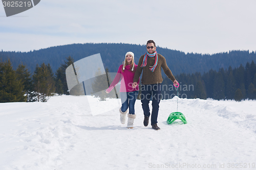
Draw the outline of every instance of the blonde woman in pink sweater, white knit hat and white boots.
<instances>
[{"instance_id":1,"label":"blonde woman in pink sweater, white knit hat and white boots","mask_svg":"<svg viewBox=\"0 0 256 170\"><path fill-rule=\"evenodd\" d=\"M138 85L133 88L133 78L135 74L135 70L138 65L134 63L134 54L133 52L127 52L125 54L124 62L122 65L119 66L117 74L113 82L111 83L110 87L106 89L106 93L109 93L119 82L121 78L121 87L120 87L120 95L121 95L121 102L122 107L119 109L120 111L120 122L121 124L125 124L125 116L127 110L129 108L128 122L127 128L132 129L134 119L136 118L134 104L136 102L139 87ZM138 84L139 84L138 80Z\"/></svg>"}]
</instances>

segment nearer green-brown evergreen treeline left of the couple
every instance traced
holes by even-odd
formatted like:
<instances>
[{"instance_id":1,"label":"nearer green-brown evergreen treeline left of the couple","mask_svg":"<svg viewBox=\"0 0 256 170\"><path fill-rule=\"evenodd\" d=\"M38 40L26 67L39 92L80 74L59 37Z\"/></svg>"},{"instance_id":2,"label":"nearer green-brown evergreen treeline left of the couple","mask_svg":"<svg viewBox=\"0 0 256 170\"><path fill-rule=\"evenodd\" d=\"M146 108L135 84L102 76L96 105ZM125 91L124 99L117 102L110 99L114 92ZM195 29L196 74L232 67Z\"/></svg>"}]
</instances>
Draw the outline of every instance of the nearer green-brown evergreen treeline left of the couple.
<instances>
[{"instance_id":1,"label":"nearer green-brown evergreen treeline left of the couple","mask_svg":"<svg viewBox=\"0 0 256 170\"><path fill-rule=\"evenodd\" d=\"M55 94L69 94L65 72L74 59L66 59L55 74L50 64L37 64L31 74L23 64L14 70L9 59L0 62L0 103L47 102Z\"/></svg>"}]
</instances>

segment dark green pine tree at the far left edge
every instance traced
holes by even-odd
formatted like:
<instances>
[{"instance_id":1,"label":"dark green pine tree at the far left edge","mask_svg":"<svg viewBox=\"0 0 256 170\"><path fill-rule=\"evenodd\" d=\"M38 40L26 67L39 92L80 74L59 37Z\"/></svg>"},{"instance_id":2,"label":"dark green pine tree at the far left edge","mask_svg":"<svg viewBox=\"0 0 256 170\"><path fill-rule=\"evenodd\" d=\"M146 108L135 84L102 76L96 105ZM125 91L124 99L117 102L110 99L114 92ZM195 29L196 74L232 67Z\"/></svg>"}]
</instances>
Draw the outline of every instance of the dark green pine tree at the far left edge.
<instances>
[{"instance_id":1,"label":"dark green pine tree at the far left edge","mask_svg":"<svg viewBox=\"0 0 256 170\"><path fill-rule=\"evenodd\" d=\"M24 85L18 80L10 60L0 64L0 102L25 102Z\"/></svg>"}]
</instances>

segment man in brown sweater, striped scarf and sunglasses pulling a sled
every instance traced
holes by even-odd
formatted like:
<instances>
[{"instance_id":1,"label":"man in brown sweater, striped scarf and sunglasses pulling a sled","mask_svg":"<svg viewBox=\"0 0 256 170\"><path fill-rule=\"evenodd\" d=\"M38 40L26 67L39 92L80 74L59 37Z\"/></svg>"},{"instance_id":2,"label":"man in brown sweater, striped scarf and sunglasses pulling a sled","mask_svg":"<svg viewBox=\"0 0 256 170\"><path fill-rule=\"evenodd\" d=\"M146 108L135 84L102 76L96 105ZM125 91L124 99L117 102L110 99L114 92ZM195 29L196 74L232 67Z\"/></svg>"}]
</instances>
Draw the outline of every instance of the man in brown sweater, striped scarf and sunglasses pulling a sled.
<instances>
[{"instance_id":1,"label":"man in brown sweater, striped scarf and sunglasses pulling a sled","mask_svg":"<svg viewBox=\"0 0 256 170\"><path fill-rule=\"evenodd\" d=\"M157 117L161 100L161 83L163 82L161 68L163 68L165 75L173 81L174 85L177 86L178 81L168 68L165 58L161 54L157 54L156 43L153 40L148 40L146 48L147 53L139 59L132 86L134 88L137 86L137 81L143 70L141 79L141 105L144 112L143 124L145 127L148 125L148 119L150 117L150 107L148 104L152 98L151 125L153 129L160 130L157 126Z\"/></svg>"}]
</instances>

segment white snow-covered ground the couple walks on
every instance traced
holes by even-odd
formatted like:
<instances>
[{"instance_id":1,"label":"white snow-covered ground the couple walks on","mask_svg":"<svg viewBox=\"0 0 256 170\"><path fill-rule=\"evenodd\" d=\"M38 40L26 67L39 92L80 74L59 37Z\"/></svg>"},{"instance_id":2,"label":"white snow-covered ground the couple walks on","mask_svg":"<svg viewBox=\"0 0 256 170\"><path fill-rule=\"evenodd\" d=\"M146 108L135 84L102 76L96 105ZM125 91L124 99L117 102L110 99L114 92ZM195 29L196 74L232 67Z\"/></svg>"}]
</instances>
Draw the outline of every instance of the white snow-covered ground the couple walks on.
<instances>
[{"instance_id":1,"label":"white snow-covered ground the couple walks on","mask_svg":"<svg viewBox=\"0 0 256 170\"><path fill-rule=\"evenodd\" d=\"M47 103L0 104L0 169L256 169L256 101L179 99L183 125L166 120L177 98L160 102L155 131L119 121L111 100L92 115L92 96L54 96Z\"/></svg>"}]
</instances>

